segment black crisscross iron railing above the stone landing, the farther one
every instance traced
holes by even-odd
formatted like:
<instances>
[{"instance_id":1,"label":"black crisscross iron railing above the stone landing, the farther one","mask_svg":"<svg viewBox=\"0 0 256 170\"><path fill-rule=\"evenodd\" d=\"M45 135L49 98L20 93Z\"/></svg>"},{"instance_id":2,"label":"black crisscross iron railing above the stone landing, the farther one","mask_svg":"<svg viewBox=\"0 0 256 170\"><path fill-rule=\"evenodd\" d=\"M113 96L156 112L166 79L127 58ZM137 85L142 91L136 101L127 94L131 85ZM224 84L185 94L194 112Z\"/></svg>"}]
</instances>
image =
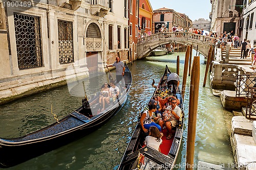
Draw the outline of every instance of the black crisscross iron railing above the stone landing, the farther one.
<instances>
[{"instance_id":1,"label":"black crisscross iron railing above the stone landing, the farther one","mask_svg":"<svg viewBox=\"0 0 256 170\"><path fill-rule=\"evenodd\" d=\"M251 93L248 93L248 90L250 87L253 87L254 78L256 78L256 75L248 74L248 75L237 75L237 81L236 81L236 98L238 97L245 97L251 98ZM255 79L256 80L256 79Z\"/></svg>"}]
</instances>

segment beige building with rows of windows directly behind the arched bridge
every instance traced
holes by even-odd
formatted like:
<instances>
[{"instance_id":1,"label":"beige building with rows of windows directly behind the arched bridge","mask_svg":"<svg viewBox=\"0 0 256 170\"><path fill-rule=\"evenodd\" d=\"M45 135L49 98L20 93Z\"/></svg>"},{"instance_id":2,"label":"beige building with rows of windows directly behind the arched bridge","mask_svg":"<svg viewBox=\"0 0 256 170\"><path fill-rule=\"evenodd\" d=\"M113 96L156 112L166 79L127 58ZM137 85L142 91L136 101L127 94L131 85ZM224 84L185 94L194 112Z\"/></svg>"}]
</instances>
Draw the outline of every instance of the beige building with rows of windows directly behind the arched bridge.
<instances>
[{"instance_id":1,"label":"beige building with rows of windows directly behind the arched bridge","mask_svg":"<svg viewBox=\"0 0 256 170\"><path fill-rule=\"evenodd\" d=\"M158 33L163 26L167 32L171 32L174 26L181 26L183 29L188 29L192 26L192 20L185 14L178 13L173 9L160 8L154 10L153 32Z\"/></svg>"}]
</instances>

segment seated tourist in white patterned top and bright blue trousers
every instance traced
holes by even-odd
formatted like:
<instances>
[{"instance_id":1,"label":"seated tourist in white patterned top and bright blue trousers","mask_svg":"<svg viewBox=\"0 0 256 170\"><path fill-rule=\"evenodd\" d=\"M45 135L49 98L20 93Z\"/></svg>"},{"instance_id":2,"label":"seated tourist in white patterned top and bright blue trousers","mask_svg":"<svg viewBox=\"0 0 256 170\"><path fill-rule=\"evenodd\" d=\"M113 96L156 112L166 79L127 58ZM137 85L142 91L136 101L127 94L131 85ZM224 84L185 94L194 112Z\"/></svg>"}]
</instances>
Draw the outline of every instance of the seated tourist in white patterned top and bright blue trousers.
<instances>
[{"instance_id":1,"label":"seated tourist in white patterned top and bright blue trousers","mask_svg":"<svg viewBox=\"0 0 256 170\"><path fill-rule=\"evenodd\" d=\"M156 105L148 105L149 110L145 110L140 117L140 125L145 133L147 133L152 126L156 126L158 130L161 131L161 127L152 120L153 112L156 111L156 108Z\"/></svg>"}]
</instances>

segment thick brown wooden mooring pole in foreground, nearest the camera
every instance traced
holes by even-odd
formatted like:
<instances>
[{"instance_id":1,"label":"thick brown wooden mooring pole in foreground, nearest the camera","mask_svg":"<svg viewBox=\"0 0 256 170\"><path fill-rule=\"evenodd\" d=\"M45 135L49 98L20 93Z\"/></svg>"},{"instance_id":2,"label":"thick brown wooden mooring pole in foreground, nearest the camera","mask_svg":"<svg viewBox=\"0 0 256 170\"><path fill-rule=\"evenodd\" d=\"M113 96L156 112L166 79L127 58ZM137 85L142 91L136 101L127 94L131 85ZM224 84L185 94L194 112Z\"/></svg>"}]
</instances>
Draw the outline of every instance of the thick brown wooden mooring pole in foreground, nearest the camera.
<instances>
[{"instance_id":1,"label":"thick brown wooden mooring pole in foreground, nearest the camera","mask_svg":"<svg viewBox=\"0 0 256 170\"><path fill-rule=\"evenodd\" d=\"M200 80L200 57L195 56L191 69L188 108L188 129L187 129L187 151L186 151L186 170L194 169L194 152L197 127L197 106L199 95Z\"/></svg>"}]
</instances>

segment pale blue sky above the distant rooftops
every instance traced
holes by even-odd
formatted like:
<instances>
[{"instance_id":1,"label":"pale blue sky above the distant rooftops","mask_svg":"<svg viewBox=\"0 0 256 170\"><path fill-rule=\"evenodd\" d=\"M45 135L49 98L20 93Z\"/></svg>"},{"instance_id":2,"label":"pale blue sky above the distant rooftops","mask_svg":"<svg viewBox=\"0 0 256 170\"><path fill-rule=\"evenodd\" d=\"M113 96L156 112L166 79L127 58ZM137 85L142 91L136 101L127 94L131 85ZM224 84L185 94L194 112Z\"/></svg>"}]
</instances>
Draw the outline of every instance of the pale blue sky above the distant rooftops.
<instances>
[{"instance_id":1,"label":"pale blue sky above the distant rooftops","mask_svg":"<svg viewBox=\"0 0 256 170\"><path fill-rule=\"evenodd\" d=\"M186 14L192 21L199 18L209 19L211 12L210 0L150 0L153 10L169 8Z\"/></svg>"}]
</instances>

